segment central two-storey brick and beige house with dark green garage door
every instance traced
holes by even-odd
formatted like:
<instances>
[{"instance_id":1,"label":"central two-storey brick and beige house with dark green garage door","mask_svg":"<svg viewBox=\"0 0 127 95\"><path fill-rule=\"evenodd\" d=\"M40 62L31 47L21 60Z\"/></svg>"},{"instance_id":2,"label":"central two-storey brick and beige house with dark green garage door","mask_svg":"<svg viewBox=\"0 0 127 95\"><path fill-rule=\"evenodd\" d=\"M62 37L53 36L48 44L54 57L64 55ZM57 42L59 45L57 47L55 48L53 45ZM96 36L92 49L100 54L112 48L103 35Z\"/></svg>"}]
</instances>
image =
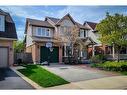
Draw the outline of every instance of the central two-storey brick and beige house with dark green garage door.
<instances>
[{"instance_id":1,"label":"central two-storey brick and beige house with dark green garage door","mask_svg":"<svg viewBox=\"0 0 127 95\"><path fill-rule=\"evenodd\" d=\"M25 42L26 42L26 52L32 53L32 59L34 63L40 63L49 60L52 63L62 62L63 57L67 57L67 44L61 46L55 43L54 36L56 34L62 33L64 29L71 28L76 25L79 30L79 38L84 39L84 42L89 42L89 45L95 44L95 42L88 37L88 30L82 24L76 22L70 14L65 15L61 19L46 17L45 20L36 19L26 19L25 28ZM53 44L52 53L46 48L46 43L51 42ZM86 51L79 51L79 57L87 58L88 53Z\"/></svg>"}]
</instances>

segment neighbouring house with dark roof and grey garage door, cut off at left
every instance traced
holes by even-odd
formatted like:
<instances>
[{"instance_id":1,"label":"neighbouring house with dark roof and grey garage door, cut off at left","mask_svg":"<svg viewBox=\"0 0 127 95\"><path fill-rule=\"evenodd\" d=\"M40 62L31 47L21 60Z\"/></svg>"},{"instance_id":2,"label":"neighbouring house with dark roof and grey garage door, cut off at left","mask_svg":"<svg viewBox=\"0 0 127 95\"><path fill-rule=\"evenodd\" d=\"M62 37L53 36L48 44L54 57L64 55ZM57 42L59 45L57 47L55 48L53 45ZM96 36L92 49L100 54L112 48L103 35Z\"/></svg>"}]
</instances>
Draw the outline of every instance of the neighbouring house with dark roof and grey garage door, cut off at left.
<instances>
[{"instance_id":1,"label":"neighbouring house with dark roof and grey garage door, cut off at left","mask_svg":"<svg viewBox=\"0 0 127 95\"><path fill-rule=\"evenodd\" d=\"M0 10L0 68L14 63L15 40L17 40L15 24L9 13Z\"/></svg>"}]
</instances>

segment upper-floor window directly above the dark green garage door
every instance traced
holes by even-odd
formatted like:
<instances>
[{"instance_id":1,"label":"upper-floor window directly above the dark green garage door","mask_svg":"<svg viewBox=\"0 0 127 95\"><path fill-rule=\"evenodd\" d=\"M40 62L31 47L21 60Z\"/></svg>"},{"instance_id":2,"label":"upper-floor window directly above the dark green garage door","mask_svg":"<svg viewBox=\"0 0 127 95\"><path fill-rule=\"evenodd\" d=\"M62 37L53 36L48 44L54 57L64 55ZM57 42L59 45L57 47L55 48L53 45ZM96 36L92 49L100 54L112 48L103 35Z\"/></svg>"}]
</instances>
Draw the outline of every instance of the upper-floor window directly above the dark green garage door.
<instances>
[{"instance_id":1,"label":"upper-floor window directly above the dark green garage door","mask_svg":"<svg viewBox=\"0 0 127 95\"><path fill-rule=\"evenodd\" d=\"M51 37L51 31L50 31L50 29L47 29L47 28L37 27L36 33L37 33L37 36Z\"/></svg>"}]
</instances>

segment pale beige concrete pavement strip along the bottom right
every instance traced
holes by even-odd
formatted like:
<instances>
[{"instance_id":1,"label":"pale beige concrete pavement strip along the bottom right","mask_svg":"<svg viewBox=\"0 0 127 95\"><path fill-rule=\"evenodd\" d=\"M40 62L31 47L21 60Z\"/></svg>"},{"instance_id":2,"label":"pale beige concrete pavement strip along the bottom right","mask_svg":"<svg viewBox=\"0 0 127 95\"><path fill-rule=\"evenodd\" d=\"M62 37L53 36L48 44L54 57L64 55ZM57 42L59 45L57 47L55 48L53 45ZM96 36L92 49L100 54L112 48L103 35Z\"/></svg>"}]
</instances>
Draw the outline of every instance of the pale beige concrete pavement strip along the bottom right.
<instances>
[{"instance_id":1,"label":"pale beige concrete pavement strip along the bottom right","mask_svg":"<svg viewBox=\"0 0 127 95\"><path fill-rule=\"evenodd\" d=\"M113 76L71 84L50 87L48 89L127 89L127 76Z\"/></svg>"}]
</instances>

